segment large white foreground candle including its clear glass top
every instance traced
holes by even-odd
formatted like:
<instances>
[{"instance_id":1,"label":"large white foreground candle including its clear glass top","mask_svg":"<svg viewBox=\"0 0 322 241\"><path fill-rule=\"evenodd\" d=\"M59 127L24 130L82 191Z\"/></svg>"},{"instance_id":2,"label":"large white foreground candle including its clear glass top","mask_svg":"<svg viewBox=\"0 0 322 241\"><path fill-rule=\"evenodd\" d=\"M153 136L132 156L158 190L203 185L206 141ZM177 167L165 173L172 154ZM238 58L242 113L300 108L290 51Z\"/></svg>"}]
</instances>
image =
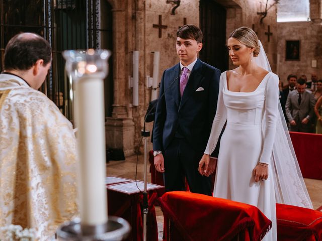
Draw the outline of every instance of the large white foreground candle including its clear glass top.
<instances>
[{"instance_id":1,"label":"large white foreground candle including its clear glass top","mask_svg":"<svg viewBox=\"0 0 322 241\"><path fill-rule=\"evenodd\" d=\"M82 225L107 222L105 188L104 83L108 73L107 50L63 52L66 70L74 81L74 116L77 131L78 187Z\"/></svg>"}]
</instances>

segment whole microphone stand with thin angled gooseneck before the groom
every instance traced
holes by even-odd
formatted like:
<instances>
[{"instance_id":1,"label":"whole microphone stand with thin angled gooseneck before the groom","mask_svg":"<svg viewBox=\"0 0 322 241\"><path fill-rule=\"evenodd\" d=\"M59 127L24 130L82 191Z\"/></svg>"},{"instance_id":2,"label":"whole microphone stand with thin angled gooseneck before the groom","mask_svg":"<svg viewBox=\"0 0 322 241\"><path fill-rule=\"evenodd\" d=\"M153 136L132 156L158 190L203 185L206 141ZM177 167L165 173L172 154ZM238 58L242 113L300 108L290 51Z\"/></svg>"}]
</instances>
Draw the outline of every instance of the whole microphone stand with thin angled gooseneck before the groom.
<instances>
[{"instance_id":1,"label":"whole microphone stand with thin angled gooseneck before the groom","mask_svg":"<svg viewBox=\"0 0 322 241\"><path fill-rule=\"evenodd\" d=\"M159 96L158 100L156 103L152 106L152 108L145 114L144 116L144 125L143 125L143 130L141 131L141 137L144 139L144 171L143 171L143 179L144 179L144 191L143 191L143 241L147 240L147 213L148 213L148 199L147 199L147 190L146 190L146 183L147 183L147 140L150 137L150 132L145 130L145 123L146 123L146 116L151 113L151 111L156 108L156 105L161 99L165 93L168 91L168 89L176 82L178 77L176 77L168 86L168 88L163 92L161 96Z\"/></svg>"}]
</instances>

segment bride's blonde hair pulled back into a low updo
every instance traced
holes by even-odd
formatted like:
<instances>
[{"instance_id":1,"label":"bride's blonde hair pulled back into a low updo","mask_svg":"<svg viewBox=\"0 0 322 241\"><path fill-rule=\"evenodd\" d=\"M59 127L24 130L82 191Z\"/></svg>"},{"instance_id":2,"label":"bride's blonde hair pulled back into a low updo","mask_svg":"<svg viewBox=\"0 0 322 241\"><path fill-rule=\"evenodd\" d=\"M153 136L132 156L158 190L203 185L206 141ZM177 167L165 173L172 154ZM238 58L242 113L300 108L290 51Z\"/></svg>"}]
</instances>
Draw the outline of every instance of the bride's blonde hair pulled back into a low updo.
<instances>
[{"instance_id":1,"label":"bride's blonde hair pulled back into a low updo","mask_svg":"<svg viewBox=\"0 0 322 241\"><path fill-rule=\"evenodd\" d=\"M258 44L258 37L254 30L248 27L240 27L235 29L229 38L234 38L240 43L245 44L248 48L254 48L254 57L257 57L260 53L260 45Z\"/></svg>"}]
</instances>

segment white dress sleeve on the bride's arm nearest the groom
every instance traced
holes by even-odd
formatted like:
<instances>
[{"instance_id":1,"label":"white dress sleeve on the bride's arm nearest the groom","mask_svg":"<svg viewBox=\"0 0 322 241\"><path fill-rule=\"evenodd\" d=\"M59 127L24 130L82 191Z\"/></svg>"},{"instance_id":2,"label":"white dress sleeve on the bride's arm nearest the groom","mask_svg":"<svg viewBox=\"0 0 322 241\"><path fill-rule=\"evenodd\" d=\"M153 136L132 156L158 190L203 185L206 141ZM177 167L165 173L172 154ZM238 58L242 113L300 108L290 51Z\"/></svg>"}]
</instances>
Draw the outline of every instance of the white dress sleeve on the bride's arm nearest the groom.
<instances>
[{"instance_id":1,"label":"white dress sleeve on the bride's arm nearest the groom","mask_svg":"<svg viewBox=\"0 0 322 241\"><path fill-rule=\"evenodd\" d=\"M223 85L226 79L223 77L223 73L220 75L220 81L219 81L219 94L218 94L218 103L217 103L217 111L215 118L212 123L210 137L208 140L208 144L205 150L205 154L211 155L211 153L215 150L216 145L218 143L218 139L221 133L221 130L223 126L225 125L226 119L227 119L227 110L226 106L223 102Z\"/></svg>"}]
</instances>

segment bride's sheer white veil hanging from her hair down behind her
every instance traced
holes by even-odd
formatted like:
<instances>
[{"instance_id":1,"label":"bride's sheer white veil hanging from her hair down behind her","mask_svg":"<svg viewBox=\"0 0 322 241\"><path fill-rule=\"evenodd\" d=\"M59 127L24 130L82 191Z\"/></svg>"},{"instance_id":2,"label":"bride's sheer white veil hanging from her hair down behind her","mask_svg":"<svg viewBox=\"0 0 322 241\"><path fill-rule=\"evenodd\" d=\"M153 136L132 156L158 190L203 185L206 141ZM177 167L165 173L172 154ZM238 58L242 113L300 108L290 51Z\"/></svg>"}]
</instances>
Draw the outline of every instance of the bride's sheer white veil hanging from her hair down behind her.
<instances>
[{"instance_id":1,"label":"bride's sheer white veil hanging from her hair down behind her","mask_svg":"<svg viewBox=\"0 0 322 241\"><path fill-rule=\"evenodd\" d=\"M253 61L263 69L272 72L261 41L260 53ZM281 103L279 103L276 135L272 150L271 164L277 203L313 208L302 173L300 171L291 138L286 125ZM265 115L264 115L265 116ZM262 123L265 132L265 117Z\"/></svg>"}]
</instances>

